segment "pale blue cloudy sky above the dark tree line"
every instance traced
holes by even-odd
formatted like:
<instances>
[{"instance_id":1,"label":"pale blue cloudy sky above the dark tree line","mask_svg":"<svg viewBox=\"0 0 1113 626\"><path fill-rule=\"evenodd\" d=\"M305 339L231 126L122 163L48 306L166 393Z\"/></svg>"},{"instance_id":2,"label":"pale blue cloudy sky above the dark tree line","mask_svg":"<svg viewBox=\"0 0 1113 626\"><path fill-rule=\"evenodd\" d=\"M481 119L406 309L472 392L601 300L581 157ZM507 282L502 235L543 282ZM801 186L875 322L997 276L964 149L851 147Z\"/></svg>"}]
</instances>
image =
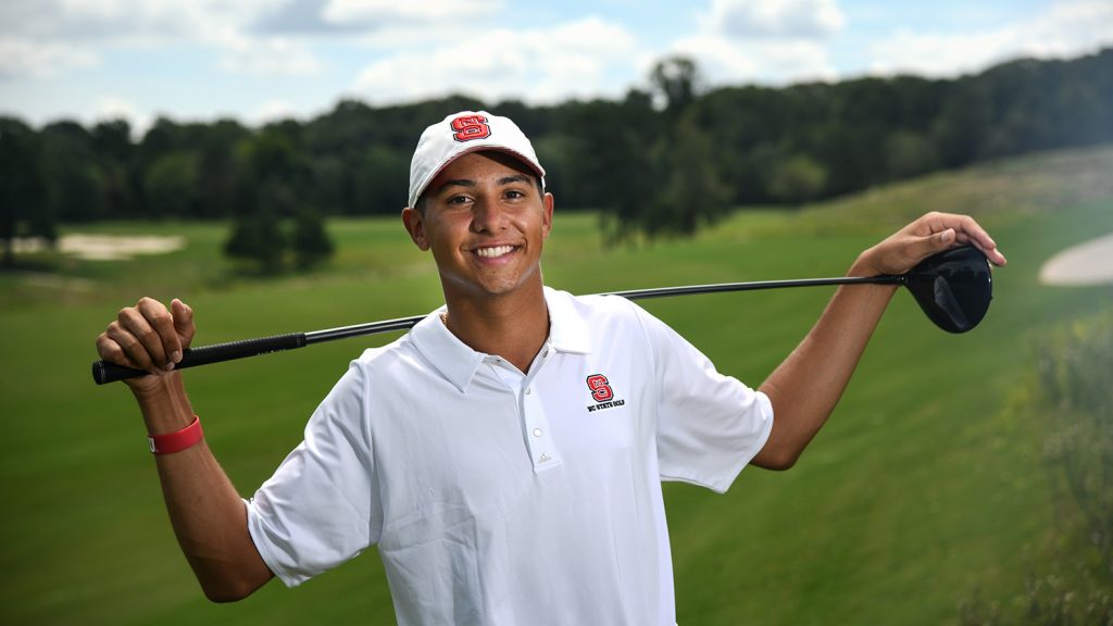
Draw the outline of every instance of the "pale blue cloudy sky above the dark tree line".
<instances>
[{"instance_id":1,"label":"pale blue cloudy sky above the dark tree line","mask_svg":"<svg viewBox=\"0 0 1113 626\"><path fill-rule=\"evenodd\" d=\"M1113 0L3 0L0 113L254 125L344 97L617 97L674 53L712 86L786 85L1109 46Z\"/></svg>"}]
</instances>

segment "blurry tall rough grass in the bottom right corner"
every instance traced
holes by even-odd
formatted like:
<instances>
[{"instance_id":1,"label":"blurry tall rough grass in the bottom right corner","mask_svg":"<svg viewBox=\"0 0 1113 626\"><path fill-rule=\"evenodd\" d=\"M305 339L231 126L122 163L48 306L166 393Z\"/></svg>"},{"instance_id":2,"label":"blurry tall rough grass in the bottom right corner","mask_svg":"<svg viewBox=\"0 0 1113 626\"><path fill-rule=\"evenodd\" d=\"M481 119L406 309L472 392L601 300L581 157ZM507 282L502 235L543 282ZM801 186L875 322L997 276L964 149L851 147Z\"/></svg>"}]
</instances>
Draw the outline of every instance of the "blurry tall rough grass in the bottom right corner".
<instances>
[{"instance_id":1,"label":"blurry tall rough grass in the bottom right corner","mask_svg":"<svg viewBox=\"0 0 1113 626\"><path fill-rule=\"evenodd\" d=\"M1023 594L959 604L964 625L1113 626L1113 312L1050 332L1014 410L1044 433L1055 517Z\"/></svg>"}]
</instances>

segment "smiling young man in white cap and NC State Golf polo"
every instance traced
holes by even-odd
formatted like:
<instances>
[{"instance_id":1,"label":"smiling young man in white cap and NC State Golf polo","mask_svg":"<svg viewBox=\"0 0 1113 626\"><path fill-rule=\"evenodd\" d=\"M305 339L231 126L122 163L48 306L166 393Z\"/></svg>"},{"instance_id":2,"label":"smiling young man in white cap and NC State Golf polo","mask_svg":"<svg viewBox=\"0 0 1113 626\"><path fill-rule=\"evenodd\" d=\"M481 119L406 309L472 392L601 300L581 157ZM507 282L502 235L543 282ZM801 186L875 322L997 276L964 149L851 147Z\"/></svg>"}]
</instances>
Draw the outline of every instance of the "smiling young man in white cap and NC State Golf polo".
<instances>
[{"instance_id":1,"label":"smiling young man in white cap and NC State Golf polo","mask_svg":"<svg viewBox=\"0 0 1113 626\"><path fill-rule=\"evenodd\" d=\"M120 312L97 346L150 372L128 384L206 595L297 585L377 545L400 624L674 623L660 481L725 491L747 463L790 467L896 287L840 288L752 390L626 300L543 286L552 218L512 121L465 111L426 129L402 222L445 306L354 361L250 500L174 371L193 312L149 299ZM961 243L1005 263L973 219L930 214L850 274L904 273Z\"/></svg>"}]
</instances>

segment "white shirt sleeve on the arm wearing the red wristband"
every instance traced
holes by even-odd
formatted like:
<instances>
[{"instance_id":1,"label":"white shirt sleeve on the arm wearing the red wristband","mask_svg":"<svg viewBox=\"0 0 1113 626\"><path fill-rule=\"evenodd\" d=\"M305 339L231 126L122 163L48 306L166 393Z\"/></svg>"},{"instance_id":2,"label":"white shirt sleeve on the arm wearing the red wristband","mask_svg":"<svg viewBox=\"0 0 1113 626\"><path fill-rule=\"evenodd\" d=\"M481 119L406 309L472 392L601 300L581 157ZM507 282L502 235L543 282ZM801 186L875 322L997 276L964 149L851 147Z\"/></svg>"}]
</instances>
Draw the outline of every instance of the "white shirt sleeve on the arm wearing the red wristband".
<instances>
[{"instance_id":1,"label":"white shirt sleeve on the arm wearing the red wristband","mask_svg":"<svg viewBox=\"0 0 1113 626\"><path fill-rule=\"evenodd\" d=\"M314 411L305 439L250 500L248 530L259 555L293 587L378 539L364 373L357 362Z\"/></svg>"}]
</instances>

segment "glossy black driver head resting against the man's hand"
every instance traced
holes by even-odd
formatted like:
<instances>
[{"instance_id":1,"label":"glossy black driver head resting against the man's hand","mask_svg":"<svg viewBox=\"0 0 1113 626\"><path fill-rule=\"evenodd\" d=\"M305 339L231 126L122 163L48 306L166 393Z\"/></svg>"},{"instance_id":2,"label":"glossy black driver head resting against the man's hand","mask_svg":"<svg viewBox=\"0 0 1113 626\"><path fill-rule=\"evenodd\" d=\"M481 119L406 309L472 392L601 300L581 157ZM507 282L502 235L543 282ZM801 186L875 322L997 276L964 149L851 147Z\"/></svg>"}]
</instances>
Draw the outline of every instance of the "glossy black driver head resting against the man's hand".
<instances>
[{"instance_id":1,"label":"glossy black driver head resting against the man's hand","mask_svg":"<svg viewBox=\"0 0 1113 626\"><path fill-rule=\"evenodd\" d=\"M948 333L976 326L993 300L989 261L974 246L928 256L904 275L904 285L928 319Z\"/></svg>"}]
</instances>

